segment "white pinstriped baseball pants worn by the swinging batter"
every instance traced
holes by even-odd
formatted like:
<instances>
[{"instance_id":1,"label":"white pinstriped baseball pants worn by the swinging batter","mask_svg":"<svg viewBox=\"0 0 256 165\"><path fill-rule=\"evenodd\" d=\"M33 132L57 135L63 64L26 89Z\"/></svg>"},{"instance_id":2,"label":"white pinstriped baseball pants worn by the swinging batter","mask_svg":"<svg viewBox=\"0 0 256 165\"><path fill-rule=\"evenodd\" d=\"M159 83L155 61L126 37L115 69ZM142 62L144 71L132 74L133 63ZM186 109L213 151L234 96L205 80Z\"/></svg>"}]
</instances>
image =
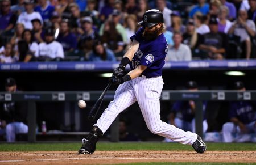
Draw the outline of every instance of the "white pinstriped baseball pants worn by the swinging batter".
<instances>
[{"instance_id":1,"label":"white pinstriped baseball pants worn by the swinging batter","mask_svg":"<svg viewBox=\"0 0 256 165\"><path fill-rule=\"evenodd\" d=\"M147 128L152 133L182 144L192 145L197 139L196 133L185 132L160 119L159 99L163 84L162 77L137 77L120 84L115 91L114 100L110 102L95 125L105 133L120 112L138 101Z\"/></svg>"}]
</instances>

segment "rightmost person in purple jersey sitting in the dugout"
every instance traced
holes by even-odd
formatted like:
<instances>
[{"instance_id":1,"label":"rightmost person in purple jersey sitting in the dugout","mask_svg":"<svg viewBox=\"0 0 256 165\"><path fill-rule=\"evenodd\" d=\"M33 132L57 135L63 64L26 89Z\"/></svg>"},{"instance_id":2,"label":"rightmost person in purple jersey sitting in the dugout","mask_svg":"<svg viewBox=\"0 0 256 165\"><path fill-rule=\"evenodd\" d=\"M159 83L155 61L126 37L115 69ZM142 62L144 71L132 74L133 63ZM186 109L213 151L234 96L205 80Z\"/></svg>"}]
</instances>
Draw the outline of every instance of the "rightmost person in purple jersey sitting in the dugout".
<instances>
[{"instance_id":1,"label":"rightmost person in purple jersey sitting in the dugout","mask_svg":"<svg viewBox=\"0 0 256 165\"><path fill-rule=\"evenodd\" d=\"M246 91L243 82L234 83L235 90ZM243 95L243 93L242 93ZM232 134L237 133L237 142L244 142L243 134L256 133L255 103L251 101L231 101L229 109L230 122L222 127L223 140L226 143L234 142Z\"/></svg>"}]
</instances>

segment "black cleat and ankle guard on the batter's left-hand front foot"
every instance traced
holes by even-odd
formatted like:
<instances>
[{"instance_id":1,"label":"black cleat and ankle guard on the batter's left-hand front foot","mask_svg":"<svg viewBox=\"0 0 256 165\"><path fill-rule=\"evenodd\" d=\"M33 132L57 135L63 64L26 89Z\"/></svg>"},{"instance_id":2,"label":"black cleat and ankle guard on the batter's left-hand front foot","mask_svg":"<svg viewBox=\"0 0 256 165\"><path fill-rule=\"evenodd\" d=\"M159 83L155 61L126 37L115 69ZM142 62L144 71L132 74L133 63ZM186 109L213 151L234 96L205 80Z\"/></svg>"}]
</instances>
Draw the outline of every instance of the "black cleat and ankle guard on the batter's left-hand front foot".
<instances>
[{"instance_id":1,"label":"black cleat and ankle guard on the batter's left-hand front foot","mask_svg":"<svg viewBox=\"0 0 256 165\"><path fill-rule=\"evenodd\" d=\"M101 129L98 126L93 126L86 139L82 139L82 146L78 151L79 154L93 154L96 150L96 143L102 135Z\"/></svg>"}]
</instances>

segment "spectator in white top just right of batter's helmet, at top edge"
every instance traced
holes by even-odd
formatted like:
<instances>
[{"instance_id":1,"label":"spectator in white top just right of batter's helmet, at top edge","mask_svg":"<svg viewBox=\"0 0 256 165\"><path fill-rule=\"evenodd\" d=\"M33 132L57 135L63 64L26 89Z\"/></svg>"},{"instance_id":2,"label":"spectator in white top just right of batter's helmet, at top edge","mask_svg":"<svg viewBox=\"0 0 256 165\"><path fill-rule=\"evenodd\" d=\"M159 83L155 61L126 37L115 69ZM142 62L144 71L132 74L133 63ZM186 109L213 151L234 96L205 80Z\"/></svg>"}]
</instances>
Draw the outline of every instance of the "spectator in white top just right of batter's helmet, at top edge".
<instances>
[{"instance_id":1,"label":"spectator in white top just right of batter's helmet, at top edge","mask_svg":"<svg viewBox=\"0 0 256 165\"><path fill-rule=\"evenodd\" d=\"M156 0L156 8L163 13L164 24L166 28L171 27L171 13L172 10L166 6L166 0Z\"/></svg>"}]
</instances>

